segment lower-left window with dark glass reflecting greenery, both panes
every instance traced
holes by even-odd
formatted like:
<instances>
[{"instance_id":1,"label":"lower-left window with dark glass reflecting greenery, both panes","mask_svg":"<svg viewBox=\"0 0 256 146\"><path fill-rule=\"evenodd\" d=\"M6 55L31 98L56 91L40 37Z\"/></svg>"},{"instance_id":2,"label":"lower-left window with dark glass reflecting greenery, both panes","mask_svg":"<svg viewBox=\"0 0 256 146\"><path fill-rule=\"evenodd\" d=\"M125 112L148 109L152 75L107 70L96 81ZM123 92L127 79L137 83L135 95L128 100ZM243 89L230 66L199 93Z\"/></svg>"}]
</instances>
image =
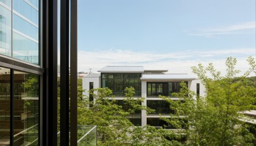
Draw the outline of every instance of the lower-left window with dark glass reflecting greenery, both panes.
<instances>
[{"instance_id":1,"label":"lower-left window with dark glass reflecting greenery, both panes","mask_svg":"<svg viewBox=\"0 0 256 146\"><path fill-rule=\"evenodd\" d=\"M13 75L13 84L10 75ZM38 80L38 75L20 71L11 73L10 69L0 68L0 145L10 144L10 131L13 131L13 145L38 144Z\"/></svg>"}]
</instances>

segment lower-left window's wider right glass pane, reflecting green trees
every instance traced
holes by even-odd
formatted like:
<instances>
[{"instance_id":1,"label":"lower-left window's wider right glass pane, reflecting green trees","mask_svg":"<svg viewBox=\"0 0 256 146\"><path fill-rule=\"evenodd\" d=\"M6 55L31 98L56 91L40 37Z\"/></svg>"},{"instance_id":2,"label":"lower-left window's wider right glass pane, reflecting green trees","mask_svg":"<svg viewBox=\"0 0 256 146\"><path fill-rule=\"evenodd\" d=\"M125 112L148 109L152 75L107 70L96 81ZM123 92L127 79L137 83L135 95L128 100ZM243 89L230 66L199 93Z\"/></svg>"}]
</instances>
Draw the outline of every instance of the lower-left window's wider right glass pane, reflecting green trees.
<instances>
[{"instance_id":1,"label":"lower-left window's wider right glass pane, reflecting green trees","mask_svg":"<svg viewBox=\"0 0 256 146\"><path fill-rule=\"evenodd\" d=\"M38 144L38 75L14 72L14 137L16 145Z\"/></svg>"}]
</instances>

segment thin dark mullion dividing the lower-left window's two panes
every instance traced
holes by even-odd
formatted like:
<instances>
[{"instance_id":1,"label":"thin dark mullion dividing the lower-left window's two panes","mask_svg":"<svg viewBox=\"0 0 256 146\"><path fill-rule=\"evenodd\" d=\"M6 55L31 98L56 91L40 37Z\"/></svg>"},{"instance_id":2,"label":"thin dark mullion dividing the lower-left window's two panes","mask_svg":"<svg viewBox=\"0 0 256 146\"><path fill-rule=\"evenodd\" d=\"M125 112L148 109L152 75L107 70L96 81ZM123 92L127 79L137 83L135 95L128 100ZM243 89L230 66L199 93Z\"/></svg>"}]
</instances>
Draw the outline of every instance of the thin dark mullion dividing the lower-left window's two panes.
<instances>
[{"instance_id":1,"label":"thin dark mullion dividing the lower-left window's two panes","mask_svg":"<svg viewBox=\"0 0 256 146\"><path fill-rule=\"evenodd\" d=\"M10 69L10 146L13 145L13 102L14 102L14 91L13 91L13 84L14 84L14 75L13 69Z\"/></svg>"}]
</instances>

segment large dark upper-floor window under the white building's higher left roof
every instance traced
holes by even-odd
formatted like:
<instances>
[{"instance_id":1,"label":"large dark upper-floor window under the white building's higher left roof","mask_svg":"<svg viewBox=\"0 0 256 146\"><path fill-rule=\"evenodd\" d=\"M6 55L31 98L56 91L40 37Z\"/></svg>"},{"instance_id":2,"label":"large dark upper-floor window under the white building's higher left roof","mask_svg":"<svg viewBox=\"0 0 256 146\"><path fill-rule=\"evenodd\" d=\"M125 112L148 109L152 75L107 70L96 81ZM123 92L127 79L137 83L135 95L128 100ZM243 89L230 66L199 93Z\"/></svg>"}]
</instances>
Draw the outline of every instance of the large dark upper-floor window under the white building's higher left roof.
<instances>
[{"instance_id":1,"label":"large dark upper-floor window under the white building's higher left roof","mask_svg":"<svg viewBox=\"0 0 256 146\"><path fill-rule=\"evenodd\" d=\"M141 96L140 77L138 73L102 73L101 87L111 89L115 96L124 96L124 89L132 86L135 89L134 96Z\"/></svg>"}]
</instances>

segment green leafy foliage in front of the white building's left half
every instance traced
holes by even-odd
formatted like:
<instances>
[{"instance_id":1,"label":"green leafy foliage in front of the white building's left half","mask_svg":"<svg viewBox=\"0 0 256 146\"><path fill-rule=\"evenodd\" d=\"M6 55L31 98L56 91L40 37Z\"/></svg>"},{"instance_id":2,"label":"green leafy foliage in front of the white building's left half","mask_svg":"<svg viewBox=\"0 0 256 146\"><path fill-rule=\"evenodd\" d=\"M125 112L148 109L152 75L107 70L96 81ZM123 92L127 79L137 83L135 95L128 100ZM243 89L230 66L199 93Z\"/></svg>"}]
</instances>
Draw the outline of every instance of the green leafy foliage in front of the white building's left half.
<instances>
[{"instance_id":1,"label":"green leafy foliage in front of the white building's left half","mask_svg":"<svg viewBox=\"0 0 256 146\"><path fill-rule=\"evenodd\" d=\"M168 137L177 137L176 133L162 128L135 127L127 116L136 110L148 110L141 106L143 98L133 98L134 88L126 88L124 104L129 105L125 111L116 105L112 91L108 88L92 89L94 104L89 106L88 97L78 101L78 124L97 125L98 145L178 145L176 141L168 141ZM148 112L152 111L152 109Z\"/></svg>"}]
</instances>

